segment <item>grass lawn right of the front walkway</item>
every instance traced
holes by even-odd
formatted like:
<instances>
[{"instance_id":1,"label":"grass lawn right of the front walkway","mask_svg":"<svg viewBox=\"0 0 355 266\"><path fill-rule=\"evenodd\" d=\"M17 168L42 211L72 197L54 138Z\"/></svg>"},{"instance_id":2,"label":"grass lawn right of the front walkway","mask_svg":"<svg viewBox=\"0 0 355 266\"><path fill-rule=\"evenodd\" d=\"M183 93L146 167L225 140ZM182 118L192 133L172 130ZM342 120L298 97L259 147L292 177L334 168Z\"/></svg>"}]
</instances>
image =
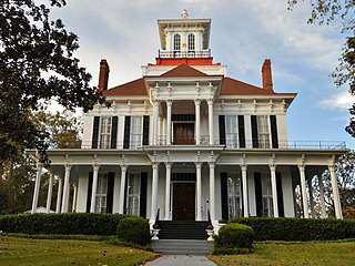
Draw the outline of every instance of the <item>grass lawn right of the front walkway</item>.
<instances>
[{"instance_id":1,"label":"grass lawn right of the front walkway","mask_svg":"<svg viewBox=\"0 0 355 266\"><path fill-rule=\"evenodd\" d=\"M355 242L257 243L254 254L210 256L226 265L355 265Z\"/></svg>"}]
</instances>

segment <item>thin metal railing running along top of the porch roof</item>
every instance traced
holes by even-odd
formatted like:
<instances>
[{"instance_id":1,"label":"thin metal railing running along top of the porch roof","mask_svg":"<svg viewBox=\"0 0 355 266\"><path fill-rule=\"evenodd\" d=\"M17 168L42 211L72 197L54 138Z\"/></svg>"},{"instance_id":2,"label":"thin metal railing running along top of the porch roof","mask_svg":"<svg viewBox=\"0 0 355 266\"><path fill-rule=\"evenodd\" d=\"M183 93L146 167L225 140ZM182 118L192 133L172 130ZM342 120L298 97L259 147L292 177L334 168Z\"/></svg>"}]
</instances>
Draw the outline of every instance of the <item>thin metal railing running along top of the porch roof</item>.
<instances>
[{"instance_id":1,"label":"thin metal railing running along top of the porch roof","mask_svg":"<svg viewBox=\"0 0 355 266\"><path fill-rule=\"evenodd\" d=\"M196 142L194 142L196 143ZM343 150L346 149L346 143L339 141L290 141L290 142L278 142L277 147L272 147L270 141L260 141L253 143L251 140L245 141L245 146L240 146L239 142L229 142L226 144L221 144L220 140L215 140L214 145L225 145L226 150L239 150L239 149L278 149L278 150ZM164 146L166 145L165 136L159 136L156 145ZM171 145L175 145L172 141ZM191 145L191 144L189 144ZM194 144L192 144L194 145ZM210 137L207 135L200 136L200 145L210 145ZM179 146L179 145L176 145ZM130 142L129 145L124 145L124 142L116 142L115 145L111 145L111 142L98 143L92 145L91 141L81 142L81 149L100 149L100 150L141 150L143 147L142 142Z\"/></svg>"}]
</instances>

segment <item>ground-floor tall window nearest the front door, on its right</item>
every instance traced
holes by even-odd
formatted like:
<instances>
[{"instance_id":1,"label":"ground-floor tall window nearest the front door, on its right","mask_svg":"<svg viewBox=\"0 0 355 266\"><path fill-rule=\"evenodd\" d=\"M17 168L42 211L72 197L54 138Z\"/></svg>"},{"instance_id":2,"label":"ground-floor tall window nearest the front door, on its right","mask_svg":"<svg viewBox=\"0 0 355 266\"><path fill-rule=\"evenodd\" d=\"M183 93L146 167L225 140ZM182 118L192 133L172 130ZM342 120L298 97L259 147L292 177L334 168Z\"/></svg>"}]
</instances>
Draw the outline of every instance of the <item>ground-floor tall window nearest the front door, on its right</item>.
<instances>
[{"instance_id":1,"label":"ground-floor tall window nearest the front door, on its right","mask_svg":"<svg viewBox=\"0 0 355 266\"><path fill-rule=\"evenodd\" d=\"M241 177L229 176L229 216L230 218L242 216L242 201L241 201Z\"/></svg>"}]
</instances>

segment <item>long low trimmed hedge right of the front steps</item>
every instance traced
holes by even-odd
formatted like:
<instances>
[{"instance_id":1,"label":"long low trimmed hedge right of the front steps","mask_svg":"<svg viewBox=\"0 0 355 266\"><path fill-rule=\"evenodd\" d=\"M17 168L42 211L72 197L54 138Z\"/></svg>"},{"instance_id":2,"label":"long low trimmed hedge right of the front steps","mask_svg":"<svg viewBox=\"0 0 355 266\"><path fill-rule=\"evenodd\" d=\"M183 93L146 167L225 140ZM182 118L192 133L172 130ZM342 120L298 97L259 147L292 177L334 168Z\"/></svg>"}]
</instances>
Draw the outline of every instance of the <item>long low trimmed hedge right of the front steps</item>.
<instances>
[{"instance_id":1,"label":"long low trimmed hedge right of the front steps","mask_svg":"<svg viewBox=\"0 0 355 266\"><path fill-rule=\"evenodd\" d=\"M307 218L234 218L253 228L255 241L334 241L355 238L355 221ZM222 227L223 228L223 227Z\"/></svg>"}]
</instances>

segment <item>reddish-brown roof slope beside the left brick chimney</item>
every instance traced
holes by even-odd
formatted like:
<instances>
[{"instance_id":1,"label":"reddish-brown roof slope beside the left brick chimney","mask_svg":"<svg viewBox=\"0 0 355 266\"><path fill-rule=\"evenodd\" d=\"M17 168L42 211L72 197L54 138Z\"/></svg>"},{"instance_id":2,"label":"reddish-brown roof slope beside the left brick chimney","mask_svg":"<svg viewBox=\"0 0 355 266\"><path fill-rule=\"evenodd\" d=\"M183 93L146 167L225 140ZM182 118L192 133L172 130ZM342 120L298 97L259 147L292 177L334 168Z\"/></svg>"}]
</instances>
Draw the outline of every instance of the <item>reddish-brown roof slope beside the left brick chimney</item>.
<instances>
[{"instance_id":1,"label":"reddish-brown roof slope beside the left brick chimney","mask_svg":"<svg viewBox=\"0 0 355 266\"><path fill-rule=\"evenodd\" d=\"M146 96L146 90L145 90L145 83L144 79L138 79L134 81L131 81L129 83L114 86L110 90L103 91L103 94L109 95L115 95L115 96Z\"/></svg>"}]
</instances>

